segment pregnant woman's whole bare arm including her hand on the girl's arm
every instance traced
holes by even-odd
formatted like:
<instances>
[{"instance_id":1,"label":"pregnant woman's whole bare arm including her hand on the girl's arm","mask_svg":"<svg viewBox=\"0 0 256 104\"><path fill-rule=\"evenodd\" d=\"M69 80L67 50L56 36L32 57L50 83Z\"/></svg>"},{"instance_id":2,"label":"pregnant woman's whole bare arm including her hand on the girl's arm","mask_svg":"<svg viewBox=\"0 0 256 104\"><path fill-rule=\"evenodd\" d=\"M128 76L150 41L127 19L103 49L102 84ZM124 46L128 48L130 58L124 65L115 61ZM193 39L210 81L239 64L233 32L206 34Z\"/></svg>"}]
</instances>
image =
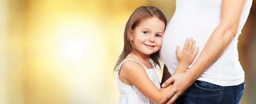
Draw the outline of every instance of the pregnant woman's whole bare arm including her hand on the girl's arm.
<instances>
[{"instance_id":1,"label":"pregnant woman's whole bare arm including her hand on the girl's arm","mask_svg":"<svg viewBox=\"0 0 256 104\"><path fill-rule=\"evenodd\" d=\"M189 71L184 74L173 75L163 84L163 87L166 87L170 83L173 83L173 89L162 99L161 103L164 103L171 97L167 104L173 103L223 54L224 50L237 34L245 1L246 0L222 0L221 23L212 32L204 49ZM185 80L184 78L187 79Z\"/></svg>"}]
</instances>

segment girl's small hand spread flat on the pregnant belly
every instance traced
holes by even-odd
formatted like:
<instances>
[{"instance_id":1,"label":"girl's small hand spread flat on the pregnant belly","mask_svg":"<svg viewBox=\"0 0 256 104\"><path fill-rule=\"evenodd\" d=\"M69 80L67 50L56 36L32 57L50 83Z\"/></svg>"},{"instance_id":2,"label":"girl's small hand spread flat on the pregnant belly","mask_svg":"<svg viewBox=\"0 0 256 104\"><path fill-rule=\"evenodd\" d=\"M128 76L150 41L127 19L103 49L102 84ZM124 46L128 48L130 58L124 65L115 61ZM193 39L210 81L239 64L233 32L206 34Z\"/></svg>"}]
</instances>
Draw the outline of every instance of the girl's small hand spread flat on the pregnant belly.
<instances>
[{"instance_id":1,"label":"girl's small hand spread flat on the pregnant belly","mask_svg":"<svg viewBox=\"0 0 256 104\"><path fill-rule=\"evenodd\" d=\"M197 47L195 50L195 40L193 40L193 38L190 38L190 40L187 38L182 52L180 53L180 46L177 46L176 49L179 63L189 66L194 61L195 56L198 54L198 50L199 47Z\"/></svg>"}]
</instances>

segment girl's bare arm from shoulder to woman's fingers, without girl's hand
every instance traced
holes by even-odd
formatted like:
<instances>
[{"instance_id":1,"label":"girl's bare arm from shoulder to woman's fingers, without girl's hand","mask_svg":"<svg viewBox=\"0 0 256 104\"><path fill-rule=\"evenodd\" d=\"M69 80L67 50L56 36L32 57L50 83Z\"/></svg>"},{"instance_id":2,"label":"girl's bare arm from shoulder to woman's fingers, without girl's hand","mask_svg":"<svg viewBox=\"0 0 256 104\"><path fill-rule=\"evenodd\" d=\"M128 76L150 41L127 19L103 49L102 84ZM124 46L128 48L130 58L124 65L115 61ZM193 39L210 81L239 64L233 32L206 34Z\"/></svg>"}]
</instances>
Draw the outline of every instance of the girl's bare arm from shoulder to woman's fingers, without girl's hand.
<instances>
[{"instance_id":1,"label":"girl's bare arm from shoulder to woman's fingers, without girl's hand","mask_svg":"<svg viewBox=\"0 0 256 104\"><path fill-rule=\"evenodd\" d=\"M125 61L121 66L124 78L131 82L146 98L159 104L164 95L171 89L172 85L159 90L154 83L148 78L145 69L135 61Z\"/></svg>"}]
</instances>

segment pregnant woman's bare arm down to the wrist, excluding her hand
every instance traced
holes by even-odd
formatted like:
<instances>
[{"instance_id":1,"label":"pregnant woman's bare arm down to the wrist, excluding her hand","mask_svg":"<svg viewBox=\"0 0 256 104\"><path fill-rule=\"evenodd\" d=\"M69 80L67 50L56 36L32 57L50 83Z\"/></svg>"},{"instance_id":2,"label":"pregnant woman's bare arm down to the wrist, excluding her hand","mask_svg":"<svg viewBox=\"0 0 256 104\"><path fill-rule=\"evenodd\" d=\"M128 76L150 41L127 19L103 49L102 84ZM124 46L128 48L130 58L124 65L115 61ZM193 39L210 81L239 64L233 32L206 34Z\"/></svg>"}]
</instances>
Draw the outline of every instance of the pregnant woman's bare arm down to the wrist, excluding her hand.
<instances>
[{"instance_id":1,"label":"pregnant woman's bare arm down to the wrist, excluding her hand","mask_svg":"<svg viewBox=\"0 0 256 104\"><path fill-rule=\"evenodd\" d=\"M195 81L223 54L236 36L241 12L246 0L222 0L221 23L214 30L198 59L188 71Z\"/></svg>"}]
</instances>

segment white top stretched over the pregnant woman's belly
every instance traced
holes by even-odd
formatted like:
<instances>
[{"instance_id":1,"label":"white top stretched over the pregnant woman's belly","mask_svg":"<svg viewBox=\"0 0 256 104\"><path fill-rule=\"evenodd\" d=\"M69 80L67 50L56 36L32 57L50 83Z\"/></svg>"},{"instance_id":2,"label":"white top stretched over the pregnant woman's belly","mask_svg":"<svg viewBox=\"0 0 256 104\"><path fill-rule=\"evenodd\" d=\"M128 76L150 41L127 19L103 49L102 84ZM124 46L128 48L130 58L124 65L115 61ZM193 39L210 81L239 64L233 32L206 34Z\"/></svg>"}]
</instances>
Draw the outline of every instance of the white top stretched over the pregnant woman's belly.
<instances>
[{"instance_id":1,"label":"white top stretched over the pregnant woman's belly","mask_svg":"<svg viewBox=\"0 0 256 104\"><path fill-rule=\"evenodd\" d=\"M212 32L221 22L222 0L176 0L175 14L166 26L160 55L171 75L177 68L176 47L183 49L186 38L192 37L199 46L195 60L204 49ZM223 55L197 79L220 86L234 86L244 82L244 70L239 62L237 43L250 12L253 0L246 0L241 13L238 32ZM218 41L216 41L218 42ZM194 62L195 62L194 60ZM194 64L189 66L189 68Z\"/></svg>"}]
</instances>

